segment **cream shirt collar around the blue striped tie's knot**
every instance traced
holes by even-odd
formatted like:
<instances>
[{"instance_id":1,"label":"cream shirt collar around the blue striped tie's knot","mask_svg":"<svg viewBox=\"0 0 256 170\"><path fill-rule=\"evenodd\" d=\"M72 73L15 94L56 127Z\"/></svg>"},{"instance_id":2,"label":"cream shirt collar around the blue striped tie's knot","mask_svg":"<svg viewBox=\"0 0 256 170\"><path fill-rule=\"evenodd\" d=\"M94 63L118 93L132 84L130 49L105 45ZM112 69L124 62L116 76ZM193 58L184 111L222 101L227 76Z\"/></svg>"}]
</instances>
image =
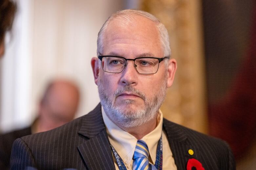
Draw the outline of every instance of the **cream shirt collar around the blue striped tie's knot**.
<instances>
[{"instance_id":1,"label":"cream shirt collar around the blue striped tie's knot","mask_svg":"<svg viewBox=\"0 0 256 170\"><path fill-rule=\"evenodd\" d=\"M106 115L103 107L101 107L101 111L110 144L116 149L118 155L121 157L124 163L129 166L132 163L137 139L133 135L118 127L114 122L112 122ZM141 139L148 145L149 154L151 157L151 160L149 161L153 164L155 164L156 161L158 141L160 140L162 135L163 115L160 110L157 123L157 127Z\"/></svg>"}]
</instances>

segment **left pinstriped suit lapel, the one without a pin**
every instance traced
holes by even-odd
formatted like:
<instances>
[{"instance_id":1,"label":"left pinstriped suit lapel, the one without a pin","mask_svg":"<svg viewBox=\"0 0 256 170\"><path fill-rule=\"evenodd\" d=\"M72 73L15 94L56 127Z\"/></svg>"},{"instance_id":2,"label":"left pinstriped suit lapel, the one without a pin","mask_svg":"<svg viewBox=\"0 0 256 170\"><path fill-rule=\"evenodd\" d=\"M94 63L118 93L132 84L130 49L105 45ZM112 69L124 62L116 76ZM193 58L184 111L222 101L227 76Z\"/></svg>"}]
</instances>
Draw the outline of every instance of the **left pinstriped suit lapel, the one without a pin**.
<instances>
[{"instance_id":1,"label":"left pinstriped suit lapel, the one without a pin","mask_svg":"<svg viewBox=\"0 0 256 170\"><path fill-rule=\"evenodd\" d=\"M100 104L84 117L78 133L88 138L77 146L88 169L115 169Z\"/></svg>"}]
</instances>

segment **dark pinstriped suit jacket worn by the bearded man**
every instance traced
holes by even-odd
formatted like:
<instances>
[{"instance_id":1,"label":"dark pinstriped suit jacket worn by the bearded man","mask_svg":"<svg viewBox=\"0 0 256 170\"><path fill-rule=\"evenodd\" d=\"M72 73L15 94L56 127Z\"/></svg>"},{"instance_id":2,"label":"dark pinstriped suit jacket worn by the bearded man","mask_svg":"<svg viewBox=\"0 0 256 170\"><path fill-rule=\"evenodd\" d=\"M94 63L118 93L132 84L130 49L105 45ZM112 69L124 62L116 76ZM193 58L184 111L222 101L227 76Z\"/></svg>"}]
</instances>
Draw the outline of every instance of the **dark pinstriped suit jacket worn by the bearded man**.
<instances>
[{"instance_id":1,"label":"dark pinstriped suit jacket worn by the bearded man","mask_svg":"<svg viewBox=\"0 0 256 170\"><path fill-rule=\"evenodd\" d=\"M234 170L228 145L164 119L178 170L185 170L188 159L199 160L205 170ZM194 150L190 156L188 150ZM11 169L115 169L110 143L99 104L93 111L56 129L15 140Z\"/></svg>"}]
</instances>

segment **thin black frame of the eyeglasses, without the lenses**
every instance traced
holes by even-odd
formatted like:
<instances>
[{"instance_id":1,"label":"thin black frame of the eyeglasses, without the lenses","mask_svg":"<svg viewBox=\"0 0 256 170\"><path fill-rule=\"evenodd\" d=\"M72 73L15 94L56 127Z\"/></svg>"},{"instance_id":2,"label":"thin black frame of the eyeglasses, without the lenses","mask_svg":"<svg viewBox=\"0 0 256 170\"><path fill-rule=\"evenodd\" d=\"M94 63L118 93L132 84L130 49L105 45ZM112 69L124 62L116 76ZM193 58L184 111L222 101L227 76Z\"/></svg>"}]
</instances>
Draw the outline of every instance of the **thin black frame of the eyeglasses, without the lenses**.
<instances>
[{"instance_id":1,"label":"thin black frame of the eyeglasses, without the lenses","mask_svg":"<svg viewBox=\"0 0 256 170\"><path fill-rule=\"evenodd\" d=\"M107 72L107 73L112 73L112 72L108 72L108 71L105 71L105 70L104 70L103 65L102 65L102 58L103 58L103 57L117 57L117 58L122 58L122 59L124 59L124 60L125 60L125 65L124 65L122 71L123 71L124 68L126 67L126 62L127 62L127 61L133 61L135 70L136 70L137 72L138 72L138 70L137 70L137 68L136 68L137 65L135 64L135 60L136 60L136 59L158 59L159 62L158 62L157 71L158 71L160 62L163 61L164 59L169 59L169 57L163 57L163 58L157 58L157 57L138 57L138 58L135 58L135 59L126 59L126 58L120 57L120 56L99 56L99 55L98 55L98 59L100 59L100 61L101 61L101 67L102 67L103 71L104 71L104 72ZM118 72L118 73L121 73L122 71L120 71L120 72ZM156 74L157 71L156 71L155 73L151 73L151 74ZM139 72L138 72L138 73L139 73ZM142 75L150 75L150 74L145 74L145 73L139 73L139 74L142 74Z\"/></svg>"}]
</instances>

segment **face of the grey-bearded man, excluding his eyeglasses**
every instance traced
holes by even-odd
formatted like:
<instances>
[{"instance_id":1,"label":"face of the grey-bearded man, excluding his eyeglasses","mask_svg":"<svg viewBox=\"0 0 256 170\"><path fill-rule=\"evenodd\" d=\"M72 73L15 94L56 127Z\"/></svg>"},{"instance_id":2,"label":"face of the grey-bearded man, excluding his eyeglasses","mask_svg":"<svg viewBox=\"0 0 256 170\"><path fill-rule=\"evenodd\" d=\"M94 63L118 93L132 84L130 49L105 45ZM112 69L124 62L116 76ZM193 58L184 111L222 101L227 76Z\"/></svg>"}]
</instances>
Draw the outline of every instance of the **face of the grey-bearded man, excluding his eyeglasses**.
<instances>
[{"instance_id":1,"label":"face of the grey-bearded man, excluding his eyeglasses","mask_svg":"<svg viewBox=\"0 0 256 170\"><path fill-rule=\"evenodd\" d=\"M104 36L101 55L126 59L164 57L156 25L144 17L137 16L129 23L112 20ZM167 89L168 73L164 62L160 62L157 73L151 75L139 74L133 61L127 61L121 73L104 72L99 65L96 83L101 104L112 121L131 127L156 117Z\"/></svg>"}]
</instances>

